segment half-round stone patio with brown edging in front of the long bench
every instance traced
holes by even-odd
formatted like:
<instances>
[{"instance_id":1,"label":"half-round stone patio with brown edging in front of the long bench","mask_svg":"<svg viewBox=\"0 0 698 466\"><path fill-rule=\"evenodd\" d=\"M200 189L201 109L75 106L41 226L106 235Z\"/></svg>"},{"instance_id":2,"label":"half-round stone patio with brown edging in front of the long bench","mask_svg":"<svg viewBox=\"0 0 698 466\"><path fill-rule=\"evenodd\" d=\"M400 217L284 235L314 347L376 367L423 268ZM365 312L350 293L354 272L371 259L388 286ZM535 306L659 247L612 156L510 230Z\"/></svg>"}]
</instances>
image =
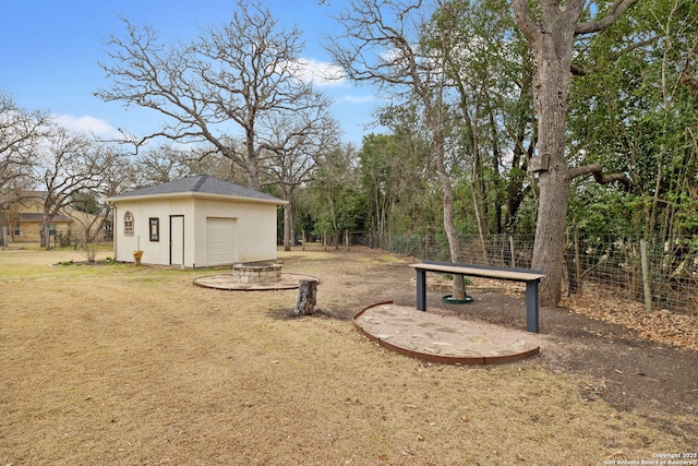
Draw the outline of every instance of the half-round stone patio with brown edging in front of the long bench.
<instances>
[{"instance_id":1,"label":"half-round stone patio with brown edging in front of the long bench","mask_svg":"<svg viewBox=\"0 0 698 466\"><path fill-rule=\"evenodd\" d=\"M353 318L357 328L381 346L429 362L496 365L540 351L539 334L422 312L393 302L373 304Z\"/></svg>"}]
</instances>

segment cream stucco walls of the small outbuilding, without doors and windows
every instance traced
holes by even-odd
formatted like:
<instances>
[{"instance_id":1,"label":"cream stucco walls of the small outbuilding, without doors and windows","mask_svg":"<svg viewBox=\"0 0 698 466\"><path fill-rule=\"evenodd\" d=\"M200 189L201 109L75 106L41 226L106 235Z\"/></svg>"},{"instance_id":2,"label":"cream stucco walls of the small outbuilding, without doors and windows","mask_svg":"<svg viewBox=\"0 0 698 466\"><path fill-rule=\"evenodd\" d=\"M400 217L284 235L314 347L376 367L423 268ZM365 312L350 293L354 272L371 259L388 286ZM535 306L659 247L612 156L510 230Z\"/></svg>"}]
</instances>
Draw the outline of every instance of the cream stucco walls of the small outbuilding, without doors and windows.
<instances>
[{"instance_id":1,"label":"cream stucco walls of the small outbuilding, without doors and windows","mask_svg":"<svg viewBox=\"0 0 698 466\"><path fill-rule=\"evenodd\" d=\"M276 260L276 212L274 204L206 198L155 198L115 200L115 259L134 262L133 251L143 251L144 264L170 264L170 216L184 217L184 266L206 264L206 218L237 218L238 261ZM133 214L133 236L123 231L123 216ZM159 240L149 239L149 218L159 219Z\"/></svg>"}]
</instances>

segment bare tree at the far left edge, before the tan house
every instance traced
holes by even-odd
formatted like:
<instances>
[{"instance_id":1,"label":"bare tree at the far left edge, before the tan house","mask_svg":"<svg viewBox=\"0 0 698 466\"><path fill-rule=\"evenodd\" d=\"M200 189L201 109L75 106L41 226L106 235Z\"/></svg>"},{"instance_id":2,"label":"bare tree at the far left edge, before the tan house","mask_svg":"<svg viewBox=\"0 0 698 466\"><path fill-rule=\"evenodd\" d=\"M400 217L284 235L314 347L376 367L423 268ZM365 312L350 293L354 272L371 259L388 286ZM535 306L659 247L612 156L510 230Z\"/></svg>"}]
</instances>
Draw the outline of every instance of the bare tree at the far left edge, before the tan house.
<instances>
[{"instance_id":1,"label":"bare tree at the far left edge, before the tan house","mask_svg":"<svg viewBox=\"0 0 698 466\"><path fill-rule=\"evenodd\" d=\"M26 192L34 165L32 156L46 135L48 120L48 113L28 112L0 92L0 213ZM7 238L0 215L0 247L3 246Z\"/></svg>"}]
</instances>

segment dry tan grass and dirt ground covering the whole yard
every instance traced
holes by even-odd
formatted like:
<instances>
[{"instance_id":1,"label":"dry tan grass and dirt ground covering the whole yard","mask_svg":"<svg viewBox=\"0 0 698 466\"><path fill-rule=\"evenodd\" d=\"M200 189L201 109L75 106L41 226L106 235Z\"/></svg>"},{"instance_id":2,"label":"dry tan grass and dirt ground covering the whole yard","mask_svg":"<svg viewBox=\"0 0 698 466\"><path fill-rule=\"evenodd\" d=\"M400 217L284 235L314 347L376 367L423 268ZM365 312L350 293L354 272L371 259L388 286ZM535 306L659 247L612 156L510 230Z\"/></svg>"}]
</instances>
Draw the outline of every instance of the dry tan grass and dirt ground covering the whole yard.
<instances>
[{"instance_id":1,"label":"dry tan grass and dirt ground covering the whole yard","mask_svg":"<svg viewBox=\"0 0 698 466\"><path fill-rule=\"evenodd\" d=\"M554 345L539 356L438 366L351 324L376 302L414 303L409 259L279 251L285 272L321 280L309 318L290 318L296 290L192 285L220 271L48 266L70 259L0 251L0 465L698 463L695 319L678 336L603 322L583 312L623 320L626 304L590 290L541 309ZM524 295L486 285L472 304L432 291L428 306L524 328Z\"/></svg>"}]
</instances>

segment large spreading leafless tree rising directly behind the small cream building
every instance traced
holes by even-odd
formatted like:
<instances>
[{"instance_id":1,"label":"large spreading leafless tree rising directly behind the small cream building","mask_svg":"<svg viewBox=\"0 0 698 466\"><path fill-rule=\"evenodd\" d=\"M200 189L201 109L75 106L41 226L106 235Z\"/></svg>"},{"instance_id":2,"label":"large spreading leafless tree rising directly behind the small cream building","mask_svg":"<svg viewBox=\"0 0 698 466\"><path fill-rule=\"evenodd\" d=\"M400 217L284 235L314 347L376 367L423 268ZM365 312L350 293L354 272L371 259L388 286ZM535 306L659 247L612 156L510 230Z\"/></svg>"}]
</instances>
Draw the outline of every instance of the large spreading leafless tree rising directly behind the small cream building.
<instances>
[{"instance_id":1,"label":"large spreading leafless tree rising directly behind the small cream building","mask_svg":"<svg viewBox=\"0 0 698 466\"><path fill-rule=\"evenodd\" d=\"M157 136L205 142L210 153L230 158L260 189L265 154L282 147L263 138L261 118L294 111L314 99L312 83L299 76L301 33L282 29L268 9L239 0L232 19L204 31L189 45L165 47L153 27L124 20L125 38L108 41L109 62L101 63L111 88L96 93L159 111L167 119ZM241 136L241 143L238 141Z\"/></svg>"}]
</instances>

